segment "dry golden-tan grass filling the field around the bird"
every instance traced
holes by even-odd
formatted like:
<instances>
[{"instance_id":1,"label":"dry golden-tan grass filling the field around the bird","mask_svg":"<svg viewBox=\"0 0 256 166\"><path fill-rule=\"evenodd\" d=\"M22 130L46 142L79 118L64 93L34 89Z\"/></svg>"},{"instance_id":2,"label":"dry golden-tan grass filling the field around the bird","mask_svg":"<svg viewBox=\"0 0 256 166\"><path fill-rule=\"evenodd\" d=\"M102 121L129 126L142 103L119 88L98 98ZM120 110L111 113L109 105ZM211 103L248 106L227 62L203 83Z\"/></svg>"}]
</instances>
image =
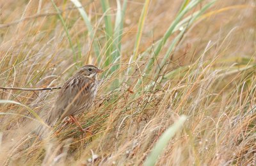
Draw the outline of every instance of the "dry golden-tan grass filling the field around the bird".
<instances>
[{"instance_id":1,"label":"dry golden-tan grass filling the field around the bird","mask_svg":"<svg viewBox=\"0 0 256 166\"><path fill-rule=\"evenodd\" d=\"M157 40L177 18L183 1L148 1L138 47L134 45L147 1L127 1L122 49L116 54L120 59L112 59L117 68L111 68L111 51L117 47L115 40L109 43L113 38L104 22L108 15L115 24L116 1L109 1L107 13L99 1L81 1L96 32L98 58L74 4L54 1L58 13L52 2L1 0L0 86L61 86L76 67L97 64L107 72L95 106L79 116L93 135L84 136L72 124L39 139L28 126L35 119L32 113L49 112L58 90L1 90L1 165L143 165L181 115L188 119L157 165L255 165L255 1L216 1L185 29L168 58L164 55L180 31L154 57ZM131 61L136 49L138 57ZM90 162L93 155L97 159Z\"/></svg>"}]
</instances>

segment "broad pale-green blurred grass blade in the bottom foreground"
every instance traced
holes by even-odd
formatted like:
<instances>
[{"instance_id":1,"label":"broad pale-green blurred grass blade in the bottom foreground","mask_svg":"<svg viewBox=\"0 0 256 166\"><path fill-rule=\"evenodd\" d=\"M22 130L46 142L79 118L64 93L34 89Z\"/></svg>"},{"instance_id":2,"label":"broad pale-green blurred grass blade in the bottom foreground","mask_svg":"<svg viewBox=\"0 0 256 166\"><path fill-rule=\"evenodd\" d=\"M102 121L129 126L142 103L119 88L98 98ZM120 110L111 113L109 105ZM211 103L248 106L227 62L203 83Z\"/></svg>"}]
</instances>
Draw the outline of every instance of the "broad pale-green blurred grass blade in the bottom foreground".
<instances>
[{"instance_id":1,"label":"broad pale-green blurred grass blade in the bottom foreground","mask_svg":"<svg viewBox=\"0 0 256 166\"><path fill-rule=\"evenodd\" d=\"M161 153L163 153L164 148L168 146L170 139L177 133L180 128L182 128L183 124L186 121L186 116L180 116L179 120L172 124L159 138L156 142L152 152L148 155L147 160L145 161L145 166L153 166L157 162L157 158Z\"/></svg>"}]
</instances>

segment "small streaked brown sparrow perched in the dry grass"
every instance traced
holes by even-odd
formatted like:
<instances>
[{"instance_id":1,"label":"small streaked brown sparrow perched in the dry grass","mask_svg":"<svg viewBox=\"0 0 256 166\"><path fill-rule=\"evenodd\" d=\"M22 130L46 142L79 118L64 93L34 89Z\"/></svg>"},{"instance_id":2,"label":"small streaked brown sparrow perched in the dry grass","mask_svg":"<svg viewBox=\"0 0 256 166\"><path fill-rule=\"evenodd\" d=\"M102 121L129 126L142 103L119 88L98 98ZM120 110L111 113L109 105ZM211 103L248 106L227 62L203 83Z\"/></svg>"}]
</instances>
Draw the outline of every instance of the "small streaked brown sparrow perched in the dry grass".
<instances>
[{"instance_id":1,"label":"small streaked brown sparrow perched in the dry grass","mask_svg":"<svg viewBox=\"0 0 256 166\"><path fill-rule=\"evenodd\" d=\"M54 108L47 118L47 124L52 126L56 121L69 116L71 121L84 131L74 116L90 109L92 106L98 87L97 74L101 72L104 71L92 64L79 68L61 87Z\"/></svg>"}]
</instances>

